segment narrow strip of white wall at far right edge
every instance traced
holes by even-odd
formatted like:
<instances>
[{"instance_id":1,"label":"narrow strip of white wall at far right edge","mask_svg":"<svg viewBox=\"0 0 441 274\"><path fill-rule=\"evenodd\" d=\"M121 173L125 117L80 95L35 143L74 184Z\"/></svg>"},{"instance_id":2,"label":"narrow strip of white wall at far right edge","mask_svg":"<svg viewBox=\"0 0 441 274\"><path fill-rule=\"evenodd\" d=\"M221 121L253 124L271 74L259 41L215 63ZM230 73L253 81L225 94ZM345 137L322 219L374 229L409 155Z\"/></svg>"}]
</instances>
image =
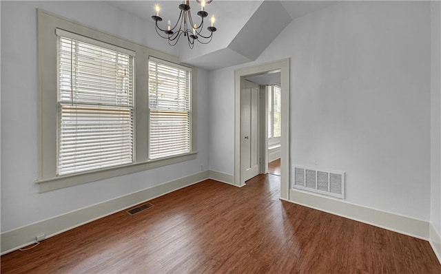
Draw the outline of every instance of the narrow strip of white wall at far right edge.
<instances>
[{"instance_id":1,"label":"narrow strip of white wall at far right edge","mask_svg":"<svg viewBox=\"0 0 441 274\"><path fill-rule=\"evenodd\" d=\"M431 215L441 235L441 2L431 2ZM441 243L438 243L441 244ZM440 254L441 255L441 254Z\"/></svg>"}]
</instances>

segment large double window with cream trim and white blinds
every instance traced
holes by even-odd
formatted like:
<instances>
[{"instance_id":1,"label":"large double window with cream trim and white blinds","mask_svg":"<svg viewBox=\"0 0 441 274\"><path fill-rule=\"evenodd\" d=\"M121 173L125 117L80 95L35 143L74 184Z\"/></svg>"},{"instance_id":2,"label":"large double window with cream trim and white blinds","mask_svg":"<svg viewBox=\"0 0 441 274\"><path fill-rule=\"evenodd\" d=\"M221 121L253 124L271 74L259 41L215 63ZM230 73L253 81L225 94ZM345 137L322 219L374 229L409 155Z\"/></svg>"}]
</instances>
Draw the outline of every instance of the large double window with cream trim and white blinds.
<instances>
[{"instance_id":1,"label":"large double window with cream trim and white blinds","mask_svg":"<svg viewBox=\"0 0 441 274\"><path fill-rule=\"evenodd\" d=\"M38 51L40 192L196 159L194 67L43 10Z\"/></svg>"}]
</instances>

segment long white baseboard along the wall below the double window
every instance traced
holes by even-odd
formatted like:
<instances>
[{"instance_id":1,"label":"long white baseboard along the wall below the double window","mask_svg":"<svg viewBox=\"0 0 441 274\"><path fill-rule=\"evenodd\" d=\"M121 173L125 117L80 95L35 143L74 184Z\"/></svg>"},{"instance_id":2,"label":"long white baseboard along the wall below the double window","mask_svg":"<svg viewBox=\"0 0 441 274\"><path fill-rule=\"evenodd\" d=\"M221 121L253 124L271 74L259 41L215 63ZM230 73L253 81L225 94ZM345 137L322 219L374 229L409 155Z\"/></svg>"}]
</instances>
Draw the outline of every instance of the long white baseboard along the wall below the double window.
<instances>
[{"instance_id":1,"label":"long white baseboard along the wall below the double window","mask_svg":"<svg viewBox=\"0 0 441 274\"><path fill-rule=\"evenodd\" d=\"M82 224L87 224L88 222L103 218L107 215L128 209L136 204L141 204L142 202L163 196L172 191L182 189L183 187L194 185L197 182L209 178L210 173L209 171L201 171L148 189L100 202L90 207L71 211L63 215L35 222L34 224L3 232L0 235L1 255L33 244L35 237L39 233L45 233L45 238L50 238L59 233L74 229L77 226L81 226Z\"/></svg>"}]
</instances>

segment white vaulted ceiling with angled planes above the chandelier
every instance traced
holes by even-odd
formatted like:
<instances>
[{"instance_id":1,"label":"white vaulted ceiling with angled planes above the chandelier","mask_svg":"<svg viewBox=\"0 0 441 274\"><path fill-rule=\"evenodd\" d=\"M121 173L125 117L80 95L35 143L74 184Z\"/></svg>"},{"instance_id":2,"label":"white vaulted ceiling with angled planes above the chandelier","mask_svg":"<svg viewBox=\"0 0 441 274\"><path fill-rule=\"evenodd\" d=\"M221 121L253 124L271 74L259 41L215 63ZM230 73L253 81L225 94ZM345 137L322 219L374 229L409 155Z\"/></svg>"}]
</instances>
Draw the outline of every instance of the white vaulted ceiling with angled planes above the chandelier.
<instances>
[{"instance_id":1,"label":"white vaulted ceiling with angled planes above the chandelier","mask_svg":"<svg viewBox=\"0 0 441 274\"><path fill-rule=\"evenodd\" d=\"M181 62L196 65L205 70L216 70L240 63L254 61L276 39L278 34L293 19L326 8L340 1L225 1L214 0L205 10L216 15L211 43L195 43L189 49L187 43L180 41L178 56ZM107 1L112 6L130 12L151 22L154 28L154 6L161 5L163 28L170 19L172 24L178 17L178 6L182 1ZM190 6L199 8L195 0ZM196 14L195 14L196 15ZM156 39L161 39L159 36ZM183 40L183 39L181 39Z\"/></svg>"}]
</instances>

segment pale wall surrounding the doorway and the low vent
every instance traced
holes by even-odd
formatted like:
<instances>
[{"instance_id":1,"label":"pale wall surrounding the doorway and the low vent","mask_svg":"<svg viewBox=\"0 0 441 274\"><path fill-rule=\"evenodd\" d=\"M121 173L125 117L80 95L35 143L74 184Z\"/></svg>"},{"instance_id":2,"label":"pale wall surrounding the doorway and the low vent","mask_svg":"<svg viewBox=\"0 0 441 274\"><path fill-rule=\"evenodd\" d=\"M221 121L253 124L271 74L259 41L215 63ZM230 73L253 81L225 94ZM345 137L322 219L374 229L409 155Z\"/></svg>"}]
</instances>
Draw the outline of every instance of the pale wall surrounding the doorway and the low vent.
<instances>
[{"instance_id":1,"label":"pale wall surrounding the doorway and the low vent","mask_svg":"<svg viewBox=\"0 0 441 274\"><path fill-rule=\"evenodd\" d=\"M256 41L258 43L258 41ZM234 70L291 59L291 165L347 171L347 201L429 220L428 2L351 1L209 72L210 169L234 173Z\"/></svg>"}]
</instances>

